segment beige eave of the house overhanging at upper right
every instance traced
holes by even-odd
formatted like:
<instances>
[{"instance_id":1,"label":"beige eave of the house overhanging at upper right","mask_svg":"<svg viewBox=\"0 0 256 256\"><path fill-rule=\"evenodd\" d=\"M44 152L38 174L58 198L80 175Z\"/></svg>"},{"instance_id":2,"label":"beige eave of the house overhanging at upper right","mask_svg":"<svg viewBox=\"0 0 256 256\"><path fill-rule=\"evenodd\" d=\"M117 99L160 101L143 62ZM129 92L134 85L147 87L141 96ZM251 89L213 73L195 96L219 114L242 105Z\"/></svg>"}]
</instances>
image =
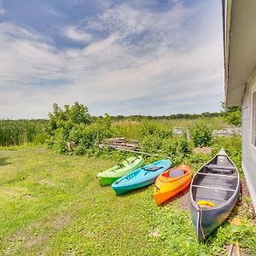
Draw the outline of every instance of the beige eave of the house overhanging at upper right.
<instances>
[{"instance_id":1,"label":"beige eave of the house overhanging at upper right","mask_svg":"<svg viewBox=\"0 0 256 256\"><path fill-rule=\"evenodd\" d=\"M256 1L223 1L226 106L241 106L256 63Z\"/></svg>"}]
</instances>

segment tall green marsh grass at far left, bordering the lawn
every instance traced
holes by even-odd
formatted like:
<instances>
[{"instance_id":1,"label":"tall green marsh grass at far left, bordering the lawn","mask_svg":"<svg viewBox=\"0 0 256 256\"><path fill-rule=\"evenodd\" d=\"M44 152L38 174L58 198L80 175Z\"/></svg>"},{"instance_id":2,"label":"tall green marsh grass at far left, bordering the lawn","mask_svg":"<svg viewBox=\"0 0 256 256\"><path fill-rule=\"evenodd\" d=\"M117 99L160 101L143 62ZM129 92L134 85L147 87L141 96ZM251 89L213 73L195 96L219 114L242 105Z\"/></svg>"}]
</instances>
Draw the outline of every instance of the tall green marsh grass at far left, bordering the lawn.
<instances>
[{"instance_id":1,"label":"tall green marsh grass at far left, bordering the lawn","mask_svg":"<svg viewBox=\"0 0 256 256\"><path fill-rule=\"evenodd\" d=\"M44 143L47 120L0 120L0 146Z\"/></svg>"}]
</instances>

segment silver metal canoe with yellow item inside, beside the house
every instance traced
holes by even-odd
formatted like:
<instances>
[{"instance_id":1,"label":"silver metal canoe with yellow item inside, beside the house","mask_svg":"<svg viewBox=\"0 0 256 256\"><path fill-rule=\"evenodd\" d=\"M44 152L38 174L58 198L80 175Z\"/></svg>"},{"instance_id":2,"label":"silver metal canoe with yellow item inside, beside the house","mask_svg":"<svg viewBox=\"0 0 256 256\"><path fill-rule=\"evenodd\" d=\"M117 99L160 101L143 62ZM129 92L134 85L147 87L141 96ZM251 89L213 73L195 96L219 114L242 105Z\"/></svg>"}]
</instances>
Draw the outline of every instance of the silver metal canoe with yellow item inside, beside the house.
<instances>
[{"instance_id":1,"label":"silver metal canoe with yellow item inside, beside the house","mask_svg":"<svg viewBox=\"0 0 256 256\"><path fill-rule=\"evenodd\" d=\"M222 148L195 173L190 185L191 217L199 241L229 217L239 192L239 172Z\"/></svg>"}]
</instances>

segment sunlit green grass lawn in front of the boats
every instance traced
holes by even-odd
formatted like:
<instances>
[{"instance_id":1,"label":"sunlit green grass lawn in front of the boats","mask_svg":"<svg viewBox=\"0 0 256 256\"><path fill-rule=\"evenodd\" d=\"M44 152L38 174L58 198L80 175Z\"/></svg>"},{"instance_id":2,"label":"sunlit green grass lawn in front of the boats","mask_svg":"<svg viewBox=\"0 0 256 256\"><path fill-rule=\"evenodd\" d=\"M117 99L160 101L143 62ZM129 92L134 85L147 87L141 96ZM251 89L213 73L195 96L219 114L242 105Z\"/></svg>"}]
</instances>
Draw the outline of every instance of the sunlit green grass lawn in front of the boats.
<instances>
[{"instance_id":1,"label":"sunlit green grass lawn in front of the boats","mask_svg":"<svg viewBox=\"0 0 256 256\"><path fill-rule=\"evenodd\" d=\"M236 207L235 234L227 221L201 244L183 197L156 207L152 186L118 197L100 187L96 173L114 160L7 149L0 150L1 255L220 255L237 240L256 253L253 220L241 211L249 199Z\"/></svg>"}]
</instances>

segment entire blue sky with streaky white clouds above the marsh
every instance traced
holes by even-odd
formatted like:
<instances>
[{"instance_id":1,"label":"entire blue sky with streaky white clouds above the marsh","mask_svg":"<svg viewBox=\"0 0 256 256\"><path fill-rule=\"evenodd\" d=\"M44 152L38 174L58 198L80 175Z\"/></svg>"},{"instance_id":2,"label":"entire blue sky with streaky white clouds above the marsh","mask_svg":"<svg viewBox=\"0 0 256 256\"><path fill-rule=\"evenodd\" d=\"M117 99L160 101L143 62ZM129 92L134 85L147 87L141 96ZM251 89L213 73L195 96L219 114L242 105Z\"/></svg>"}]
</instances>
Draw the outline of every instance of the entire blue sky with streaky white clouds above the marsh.
<instances>
[{"instance_id":1,"label":"entire blue sky with streaky white clouds above the marsh","mask_svg":"<svg viewBox=\"0 0 256 256\"><path fill-rule=\"evenodd\" d=\"M202 113L224 100L220 0L0 0L0 118Z\"/></svg>"}]
</instances>

